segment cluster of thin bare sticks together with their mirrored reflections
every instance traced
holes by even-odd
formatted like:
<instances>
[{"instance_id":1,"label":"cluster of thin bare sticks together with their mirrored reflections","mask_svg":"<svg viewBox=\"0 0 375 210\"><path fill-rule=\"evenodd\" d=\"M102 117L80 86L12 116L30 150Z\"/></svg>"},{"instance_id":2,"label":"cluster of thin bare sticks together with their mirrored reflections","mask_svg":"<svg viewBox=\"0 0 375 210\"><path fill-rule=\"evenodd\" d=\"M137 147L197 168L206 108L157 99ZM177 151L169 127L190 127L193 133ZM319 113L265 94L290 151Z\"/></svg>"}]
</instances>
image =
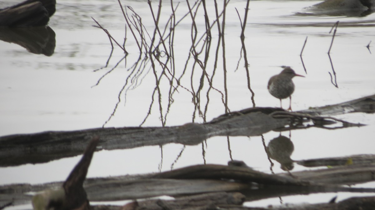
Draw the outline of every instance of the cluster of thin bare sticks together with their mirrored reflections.
<instances>
[{"instance_id":1,"label":"cluster of thin bare sticks together with their mirrored reflections","mask_svg":"<svg viewBox=\"0 0 375 210\"><path fill-rule=\"evenodd\" d=\"M133 84L135 81L142 79L144 77L144 72L145 71L153 71L155 81L156 81L156 86L154 88L153 94L151 96L152 101L150 104L150 108L148 110L147 115L145 116L143 122L141 123L144 124L145 121L147 120L148 116L151 114L151 107L154 104L154 96L157 95L157 101L159 102L159 111L160 111L160 120L162 123L162 126L165 126L167 115L169 113L170 107L172 103L174 102L173 95L174 93L178 92L178 87L181 87L183 90L186 90L192 95L192 102L195 105L194 111L193 111L193 121L195 120L196 114L199 114L203 118L203 121L206 121L206 114L208 110L208 103L210 101L209 99L209 93L211 90L214 90L218 92L221 95L221 100L222 103L225 107L225 112L230 112L228 108L228 92L226 89L226 64L225 64L225 38L224 38L224 31L225 31L225 12L226 12L226 6L229 3L230 0L226 0L223 2L222 10L219 11L218 5L216 0L214 0L214 6L215 6L215 16L213 18L213 21L210 20L210 17L207 13L207 7L206 7L206 2L205 0L200 0L200 1L195 1L193 5L190 5L189 1L186 0L187 7L189 11L185 13L179 20L176 19L176 10L178 9L179 3L174 6L173 1L170 1L171 5L171 15L166 21L166 24L163 25L163 27L160 27L160 14L161 14L161 8L162 8L162 0L159 0L158 4L158 10L155 11L153 9L153 6L151 4L151 1L148 0L148 5L150 7L150 13L154 22L154 30L152 33L148 33L146 27L142 23L142 18L139 16L136 11L130 7L130 6L123 6L118 0L118 4L120 5L121 11L123 13L124 19L126 21L126 28L125 28L125 38L124 42L121 45L118 41L116 41L113 36L109 33L108 30L103 28L98 21L94 19L96 22L98 28L101 28L102 30L107 33L111 46L112 46L112 51L111 55L113 52L113 46L114 43L120 47L123 51L125 56L123 59L126 60L126 55L127 55L127 50L125 48L125 43L127 40L127 31L130 30L132 37L134 38L136 45L138 46L139 49L139 58L138 60L131 65L131 67L127 70L130 71L131 73L129 74L128 78L126 79L125 85L123 86L122 90L120 91L118 95L118 102L115 105L115 108L113 110L113 113L111 116L108 118L108 120L104 123L103 127L105 124L110 121L110 119L114 116L115 111L118 108L118 105L120 103L120 99L122 95L125 95L125 102L126 102L126 92L131 88L131 84ZM248 77L248 88L252 93L252 102L253 106L255 106L254 102L254 92L251 90L250 87L250 77L249 77L249 71L248 71L248 61L246 57L246 48L245 48L245 25L246 25L246 19L247 19L247 13L248 13L248 6L249 6L249 0L247 1L246 9L245 9L245 18L242 23L241 20L241 27L242 27L242 34L241 34L241 40L242 40L242 49L241 49L241 54L242 52L244 53L244 59L245 59L245 68L247 72L247 77ZM198 10L203 7L203 12L204 12L204 18L205 18L205 31L202 33L199 33L198 27L196 25L196 18L198 14ZM239 12L237 11L238 15ZM240 17L240 15L239 15ZM191 20L191 41L192 44L190 46L189 50L189 55L187 55L186 63L184 65L184 69L182 72L176 72L175 71L175 59L174 59L174 39L175 39L175 28L180 24L180 22L183 19L188 19L190 18ZM221 21L221 22L220 22ZM216 27L215 27L216 26ZM217 29L217 34L218 34L218 42L216 45L216 52L215 52L215 60L214 60L214 65L213 65L213 70L210 72L210 74L207 73L207 69L210 68L208 67L208 57L210 56L210 50L212 47L211 43L211 33L213 32L213 28ZM201 34L201 35L200 35ZM220 47L222 50L222 62L223 62L223 75L224 75L224 81L223 81L223 87L224 87L224 92L220 91L219 89L215 88L212 84L214 75L217 70L217 63L220 61L219 59L219 51ZM111 56L110 55L110 56ZM202 57L202 58L201 58ZM110 59L110 58L109 58ZM109 62L109 59L107 61L107 65ZM121 61L123 61L121 59ZM193 59L192 61L190 61ZM119 62L121 62L119 61ZM118 62L118 63L119 63ZM117 65L118 65L117 63ZM106 67L107 67L106 65ZM117 67L115 65L114 68ZM181 84L181 79L184 77L185 73L187 72L187 68L191 66L191 75L190 75L190 86L191 87L185 87L183 84ZM146 67L149 67L149 70L145 70ZM109 74L112 70L108 71L105 75ZM161 69L161 70L160 70ZM198 69L199 71L196 71ZM160 71L159 71L160 70ZM179 74L179 75L177 75ZM196 88L194 87L193 84L193 74L198 74L200 77L200 82L199 86ZM102 76L102 78L105 77L105 75ZM99 79L98 83L101 81ZM170 84L170 89L168 92L168 105L166 108L166 111L163 111L163 106L161 102L161 90L159 88L159 84L162 79L167 79ZM201 105L201 92L204 87L205 81L208 82L208 90L205 92L205 95L207 97L206 99L206 104ZM139 82L135 82L136 84L139 84ZM204 108L203 108L204 107ZM140 126L141 126L140 125Z\"/></svg>"}]
</instances>

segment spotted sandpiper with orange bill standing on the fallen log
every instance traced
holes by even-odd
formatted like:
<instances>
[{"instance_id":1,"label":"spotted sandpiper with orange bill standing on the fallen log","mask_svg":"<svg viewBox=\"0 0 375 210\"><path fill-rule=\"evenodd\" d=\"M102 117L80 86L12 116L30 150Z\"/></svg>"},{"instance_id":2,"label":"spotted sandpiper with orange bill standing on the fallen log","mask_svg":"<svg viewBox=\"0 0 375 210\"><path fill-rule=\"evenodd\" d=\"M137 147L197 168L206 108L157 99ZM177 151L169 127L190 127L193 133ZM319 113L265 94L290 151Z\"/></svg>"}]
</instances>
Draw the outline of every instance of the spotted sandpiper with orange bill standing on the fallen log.
<instances>
[{"instance_id":1,"label":"spotted sandpiper with orange bill standing on the fallen log","mask_svg":"<svg viewBox=\"0 0 375 210\"><path fill-rule=\"evenodd\" d=\"M294 92L293 77L305 77L296 74L290 67L284 67L284 70L278 75L272 76L268 81L267 89L274 97L280 99L280 106L282 108L281 99L290 99L290 105L288 110L292 110L292 93Z\"/></svg>"}]
</instances>

